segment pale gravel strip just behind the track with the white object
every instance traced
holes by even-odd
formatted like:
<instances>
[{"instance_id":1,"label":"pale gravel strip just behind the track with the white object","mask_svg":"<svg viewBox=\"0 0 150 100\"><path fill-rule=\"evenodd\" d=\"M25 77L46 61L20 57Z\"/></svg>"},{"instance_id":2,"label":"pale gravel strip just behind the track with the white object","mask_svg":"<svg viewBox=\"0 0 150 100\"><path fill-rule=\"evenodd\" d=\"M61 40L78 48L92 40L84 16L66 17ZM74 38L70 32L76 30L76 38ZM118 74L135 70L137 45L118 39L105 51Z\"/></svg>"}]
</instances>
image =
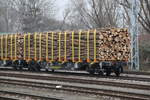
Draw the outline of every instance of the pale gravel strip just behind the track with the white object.
<instances>
[{"instance_id":1,"label":"pale gravel strip just behind the track with the white object","mask_svg":"<svg viewBox=\"0 0 150 100\"><path fill-rule=\"evenodd\" d=\"M149 95L150 96L150 90L139 90L139 89L136 89L136 86L135 86L135 89L131 89L131 88L128 88L128 87L115 87L115 86L106 86L106 85L96 85L96 84L83 84L82 82L81 83L69 83L69 80L68 82L62 82L62 81L48 81L48 80L40 80L40 79L27 79L27 78L13 78L13 77L1 77L0 76L0 79L7 79L7 80L20 80L20 81L24 81L26 84L42 84L43 85L56 85L56 86L62 86L62 87L69 87L69 86L76 86L76 87L79 87L79 88L85 88L85 87L88 87L89 89L90 88L93 88L93 89L99 89L99 90L110 90L110 91L114 91L114 92L127 92L127 93L135 93L135 94L143 94L143 95ZM1 83L3 83L4 81L1 81ZM31 83L32 82L32 83ZM105 84L105 83L104 83Z\"/></svg>"}]
</instances>

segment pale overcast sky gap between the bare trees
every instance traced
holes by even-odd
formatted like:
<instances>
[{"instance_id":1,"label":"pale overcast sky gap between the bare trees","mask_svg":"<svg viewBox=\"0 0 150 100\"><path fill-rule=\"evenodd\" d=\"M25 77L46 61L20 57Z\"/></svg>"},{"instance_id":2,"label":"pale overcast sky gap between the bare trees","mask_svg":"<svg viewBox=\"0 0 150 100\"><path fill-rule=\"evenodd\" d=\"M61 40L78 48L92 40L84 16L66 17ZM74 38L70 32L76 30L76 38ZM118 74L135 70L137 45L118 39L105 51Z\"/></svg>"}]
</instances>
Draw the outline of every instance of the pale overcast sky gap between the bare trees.
<instances>
[{"instance_id":1,"label":"pale overcast sky gap between the bare trees","mask_svg":"<svg viewBox=\"0 0 150 100\"><path fill-rule=\"evenodd\" d=\"M63 11L66 7L66 4L68 4L69 0L56 0L56 8L57 11L56 12L56 18L58 20L62 20L63 19Z\"/></svg>"}]
</instances>

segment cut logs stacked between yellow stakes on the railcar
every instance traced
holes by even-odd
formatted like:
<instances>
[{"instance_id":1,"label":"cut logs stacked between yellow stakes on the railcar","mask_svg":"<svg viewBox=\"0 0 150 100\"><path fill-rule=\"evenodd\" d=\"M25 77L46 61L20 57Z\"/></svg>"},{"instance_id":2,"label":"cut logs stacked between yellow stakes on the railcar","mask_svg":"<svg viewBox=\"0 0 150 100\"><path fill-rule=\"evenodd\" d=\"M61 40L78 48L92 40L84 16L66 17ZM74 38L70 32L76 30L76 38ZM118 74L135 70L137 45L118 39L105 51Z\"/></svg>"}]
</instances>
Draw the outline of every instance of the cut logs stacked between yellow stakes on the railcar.
<instances>
[{"instance_id":1,"label":"cut logs stacked between yellow stakes on the railcar","mask_svg":"<svg viewBox=\"0 0 150 100\"><path fill-rule=\"evenodd\" d=\"M95 36L94 32L96 32ZM6 35L0 36L1 59L15 58L15 35L9 34L7 38ZM35 33L16 36L17 59L47 59L49 61L89 59L93 61L95 47L97 61L128 61L130 59L130 36L127 29L55 31L36 33L36 36Z\"/></svg>"}]
</instances>

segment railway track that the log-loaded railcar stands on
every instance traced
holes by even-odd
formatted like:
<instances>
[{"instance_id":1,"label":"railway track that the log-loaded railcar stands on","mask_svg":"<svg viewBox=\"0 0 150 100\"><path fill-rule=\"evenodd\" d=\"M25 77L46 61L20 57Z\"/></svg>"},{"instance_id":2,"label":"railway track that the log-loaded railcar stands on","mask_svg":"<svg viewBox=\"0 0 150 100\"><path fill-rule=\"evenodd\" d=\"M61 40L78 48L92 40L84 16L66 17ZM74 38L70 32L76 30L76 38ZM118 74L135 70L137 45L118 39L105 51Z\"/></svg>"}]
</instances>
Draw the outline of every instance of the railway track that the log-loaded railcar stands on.
<instances>
[{"instance_id":1,"label":"railway track that the log-loaded railcar stands on","mask_svg":"<svg viewBox=\"0 0 150 100\"><path fill-rule=\"evenodd\" d=\"M2 71L0 71L0 75L2 75L2 74L6 74L7 72L9 72L10 71L10 69L9 70L7 70L7 69L5 69L5 70L2 70ZM10 72L14 72L13 74L15 74L16 72L18 72L18 71L10 71ZM54 75L72 75L72 76L84 76L84 77L95 77L95 78L109 78L109 79L117 79L117 80L134 80L134 81L145 81L145 82L150 82L150 76L149 75L146 75L147 77L141 77L141 76L136 76L136 75L121 75L120 77L116 77L116 76L113 76L113 75L111 75L111 76L109 76L109 77L107 77L107 76L100 76L100 75L89 75L88 73L86 73L86 72L81 72L81 73L79 73L79 72L65 72L65 71L57 71L57 72L31 72L31 71L21 71L21 72L28 72L28 73L38 73L38 74L54 74Z\"/></svg>"}]
</instances>

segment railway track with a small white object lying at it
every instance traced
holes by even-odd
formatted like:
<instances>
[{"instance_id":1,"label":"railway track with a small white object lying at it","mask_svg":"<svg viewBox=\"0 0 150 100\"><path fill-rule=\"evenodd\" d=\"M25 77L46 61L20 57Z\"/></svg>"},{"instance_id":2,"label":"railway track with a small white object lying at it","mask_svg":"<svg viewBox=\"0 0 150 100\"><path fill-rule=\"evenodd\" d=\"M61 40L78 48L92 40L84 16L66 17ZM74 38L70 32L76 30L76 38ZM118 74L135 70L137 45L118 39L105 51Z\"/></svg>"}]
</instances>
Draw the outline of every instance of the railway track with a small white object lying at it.
<instances>
[{"instance_id":1,"label":"railway track with a small white object lying at it","mask_svg":"<svg viewBox=\"0 0 150 100\"><path fill-rule=\"evenodd\" d=\"M111 97L113 96L113 97L124 98L124 99L136 99L136 100L149 100L150 99L150 95L146 95L146 94L128 93L128 92L89 88L89 87L82 87L82 86L41 83L41 82L23 81L23 80L14 80L14 79L1 80L1 83L21 85L21 86L34 87L34 88L56 89L56 90L63 90L63 91L69 91L69 92L93 94L93 95L105 95L105 96L111 96ZM56 88L57 86L62 86L62 87Z\"/></svg>"}]
</instances>

